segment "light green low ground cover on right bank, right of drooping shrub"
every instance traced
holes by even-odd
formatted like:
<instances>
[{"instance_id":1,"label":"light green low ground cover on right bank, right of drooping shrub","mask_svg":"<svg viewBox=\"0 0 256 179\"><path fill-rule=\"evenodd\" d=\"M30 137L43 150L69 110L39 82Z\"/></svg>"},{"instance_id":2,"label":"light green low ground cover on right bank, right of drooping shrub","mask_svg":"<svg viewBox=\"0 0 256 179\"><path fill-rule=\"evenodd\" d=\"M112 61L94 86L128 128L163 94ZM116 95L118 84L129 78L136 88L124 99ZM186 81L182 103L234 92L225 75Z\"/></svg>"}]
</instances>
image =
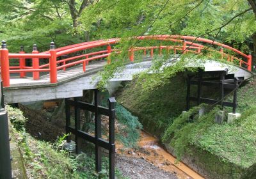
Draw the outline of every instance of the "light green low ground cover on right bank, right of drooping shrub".
<instances>
[{"instance_id":1,"label":"light green low ground cover on right bank, right of drooping shrub","mask_svg":"<svg viewBox=\"0 0 256 179\"><path fill-rule=\"evenodd\" d=\"M255 112L256 105L245 111L236 123L214 124L207 132L196 134L191 144L238 166L250 167L256 160Z\"/></svg>"}]
</instances>

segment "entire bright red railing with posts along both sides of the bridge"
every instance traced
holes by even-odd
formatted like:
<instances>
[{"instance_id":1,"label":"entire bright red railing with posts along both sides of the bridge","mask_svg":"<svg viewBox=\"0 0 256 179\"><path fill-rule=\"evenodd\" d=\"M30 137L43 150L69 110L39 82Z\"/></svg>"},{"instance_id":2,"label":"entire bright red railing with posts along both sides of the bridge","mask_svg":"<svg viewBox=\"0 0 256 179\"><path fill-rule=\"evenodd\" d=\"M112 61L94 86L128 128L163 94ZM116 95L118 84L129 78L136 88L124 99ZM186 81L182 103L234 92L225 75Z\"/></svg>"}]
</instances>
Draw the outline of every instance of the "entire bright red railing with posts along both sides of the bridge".
<instances>
[{"instance_id":1,"label":"entire bright red railing with posts along both sides of the bridge","mask_svg":"<svg viewBox=\"0 0 256 179\"><path fill-rule=\"evenodd\" d=\"M166 41L179 43L178 45L159 45L159 46L151 46L151 47L131 47L128 50L129 59L134 61L134 52L143 51L144 55L146 55L147 51L150 50L150 56L154 56L155 49L158 49L159 55L162 55L163 49L166 51L173 50L173 54L177 54L177 51L181 53L193 52L195 54L200 54L203 49L207 49L208 51L215 51L221 55L222 59L227 59L227 61L233 62L237 61L238 65L242 68L246 68L251 71L252 68L252 56L246 55L237 49L234 49L228 45L223 43L215 42L212 40L207 40L205 38L196 38L193 36L179 36L179 35L156 35L156 36L140 36L136 37L138 40L157 40L157 41ZM119 38L113 38L109 40L97 40L93 42L84 42L77 43L74 45L68 45L66 47L61 47L58 49L54 48L54 43L51 43L51 49L49 51L39 53L36 49L36 45L33 47L33 52L31 54L27 54L24 52L23 48L21 48L19 54L9 53L6 48L6 43L2 42L2 48L0 50L0 58L1 58L1 77L3 80L3 86L10 86L10 73L19 73L20 77L25 77L27 72L33 73L33 79L40 79L40 72L49 72L50 82L56 83L57 81L57 72L58 70L66 70L66 68L75 66L75 65L83 65L83 71L86 71L86 65L88 65L89 61L95 59L108 59L108 63L111 60L108 58L112 52L119 53L117 49L111 49L111 45L115 45L120 41ZM200 43L210 43L211 45L220 46L220 51L216 51L214 49L205 47L205 45ZM57 60L58 57L63 55L72 54L79 51L84 51L86 49L97 49L98 47L106 46L106 50L100 50L95 52L89 52L86 54L79 54L76 56L72 56L65 59ZM99 49L99 48L98 48ZM230 55L223 51L223 49L228 49L236 54ZM10 59L18 59L19 66L10 66ZM26 66L26 59L32 59L32 66ZM41 59L48 59L49 63L44 65L40 65Z\"/></svg>"}]
</instances>

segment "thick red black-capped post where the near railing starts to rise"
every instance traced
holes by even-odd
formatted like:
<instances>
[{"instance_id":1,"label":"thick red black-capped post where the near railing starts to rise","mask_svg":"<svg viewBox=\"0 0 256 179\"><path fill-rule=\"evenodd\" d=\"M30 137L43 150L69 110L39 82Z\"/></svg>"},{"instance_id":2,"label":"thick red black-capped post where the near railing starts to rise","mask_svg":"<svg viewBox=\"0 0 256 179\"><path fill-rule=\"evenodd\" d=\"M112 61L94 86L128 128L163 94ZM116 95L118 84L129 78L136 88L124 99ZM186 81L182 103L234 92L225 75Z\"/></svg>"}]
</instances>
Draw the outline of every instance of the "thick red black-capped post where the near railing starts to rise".
<instances>
[{"instance_id":1,"label":"thick red black-capped post where the near railing starts to rise","mask_svg":"<svg viewBox=\"0 0 256 179\"><path fill-rule=\"evenodd\" d=\"M57 52L55 50L54 42L51 42L50 49L50 81L51 83L57 82Z\"/></svg>"}]
</instances>

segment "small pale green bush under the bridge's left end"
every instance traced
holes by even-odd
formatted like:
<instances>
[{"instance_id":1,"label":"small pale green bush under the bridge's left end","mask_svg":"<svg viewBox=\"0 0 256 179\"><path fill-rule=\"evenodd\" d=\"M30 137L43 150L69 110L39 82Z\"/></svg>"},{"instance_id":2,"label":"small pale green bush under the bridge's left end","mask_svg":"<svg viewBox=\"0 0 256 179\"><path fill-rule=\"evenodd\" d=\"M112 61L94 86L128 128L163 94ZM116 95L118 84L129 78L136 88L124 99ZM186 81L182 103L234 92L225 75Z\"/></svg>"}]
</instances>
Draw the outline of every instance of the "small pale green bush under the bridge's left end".
<instances>
[{"instance_id":1,"label":"small pale green bush under the bridge's left end","mask_svg":"<svg viewBox=\"0 0 256 179\"><path fill-rule=\"evenodd\" d=\"M13 108L10 105L6 105L6 110L8 111L8 118L10 119L13 127L19 131L24 130L24 125L27 119L23 116L22 111L17 108Z\"/></svg>"}]
</instances>

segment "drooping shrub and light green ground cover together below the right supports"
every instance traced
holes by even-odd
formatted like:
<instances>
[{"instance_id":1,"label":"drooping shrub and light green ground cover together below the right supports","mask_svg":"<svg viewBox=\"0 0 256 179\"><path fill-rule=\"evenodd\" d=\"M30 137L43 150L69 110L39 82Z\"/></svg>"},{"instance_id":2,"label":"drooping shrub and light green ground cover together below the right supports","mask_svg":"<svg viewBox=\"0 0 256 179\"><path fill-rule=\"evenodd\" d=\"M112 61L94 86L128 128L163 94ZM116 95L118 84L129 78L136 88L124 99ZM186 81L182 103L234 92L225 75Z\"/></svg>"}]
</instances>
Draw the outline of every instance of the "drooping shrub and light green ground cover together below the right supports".
<instances>
[{"instance_id":1,"label":"drooping shrub and light green ground cover together below the right supports","mask_svg":"<svg viewBox=\"0 0 256 179\"><path fill-rule=\"evenodd\" d=\"M256 159L256 106L245 111L236 123L214 123L220 110L215 108L198 117L200 107L181 114L164 132L163 142L169 143L178 159L190 152L193 146L217 155L220 159L242 167L250 167ZM195 115L196 114L196 115ZM193 120L189 117L194 115Z\"/></svg>"}]
</instances>

